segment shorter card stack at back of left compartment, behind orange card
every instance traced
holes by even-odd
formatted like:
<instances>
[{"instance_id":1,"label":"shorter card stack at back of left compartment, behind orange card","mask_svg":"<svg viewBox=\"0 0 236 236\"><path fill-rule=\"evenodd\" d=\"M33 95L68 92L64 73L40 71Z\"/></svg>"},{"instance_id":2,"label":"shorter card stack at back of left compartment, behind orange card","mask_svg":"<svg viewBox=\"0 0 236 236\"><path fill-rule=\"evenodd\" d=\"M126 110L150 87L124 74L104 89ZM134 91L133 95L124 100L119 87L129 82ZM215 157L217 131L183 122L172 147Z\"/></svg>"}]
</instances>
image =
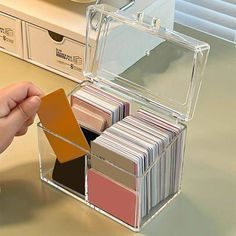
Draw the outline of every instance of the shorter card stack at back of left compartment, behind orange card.
<instances>
[{"instance_id":1,"label":"shorter card stack at back of left compartment, behind orange card","mask_svg":"<svg viewBox=\"0 0 236 236\"><path fill-rule=\"evenodd\" d=\"M130 109L129 102L94 85L74 93L71 106L79 123L98 133L129 115Z\"/></svg>"}]
</instances>

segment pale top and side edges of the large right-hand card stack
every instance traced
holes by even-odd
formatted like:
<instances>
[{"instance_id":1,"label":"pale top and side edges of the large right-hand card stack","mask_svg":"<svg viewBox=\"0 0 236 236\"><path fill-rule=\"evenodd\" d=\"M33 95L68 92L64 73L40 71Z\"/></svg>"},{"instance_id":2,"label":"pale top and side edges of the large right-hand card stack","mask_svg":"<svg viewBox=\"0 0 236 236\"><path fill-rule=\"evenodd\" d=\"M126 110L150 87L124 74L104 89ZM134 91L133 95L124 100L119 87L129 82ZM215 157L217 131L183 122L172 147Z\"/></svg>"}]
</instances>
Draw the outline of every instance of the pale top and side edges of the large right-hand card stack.
<instances>
[{"instance_id":1,"label":"pale top and side edges of the large right-hand card stack","mask_svg":"<svg viewBox=\"0 0 236 236\"><path fill-rule=\"evenodd\" d=\"M184 130L182 124L172 124L140 109L93 141L134 163L141 217L179 190Z\"/></svg>"}]
</instances>

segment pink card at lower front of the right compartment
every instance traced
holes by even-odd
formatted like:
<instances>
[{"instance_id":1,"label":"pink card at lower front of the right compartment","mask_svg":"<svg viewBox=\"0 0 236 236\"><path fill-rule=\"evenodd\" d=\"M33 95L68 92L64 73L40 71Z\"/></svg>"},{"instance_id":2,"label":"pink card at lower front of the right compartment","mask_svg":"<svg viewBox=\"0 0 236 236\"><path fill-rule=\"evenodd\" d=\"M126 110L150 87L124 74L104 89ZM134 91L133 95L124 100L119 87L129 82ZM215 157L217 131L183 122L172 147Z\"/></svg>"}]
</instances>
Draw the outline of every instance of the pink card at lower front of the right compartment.
<instances>
[{"instance_id":1,"label":"pink card at lower front of the right compartment","mask_svg":"<svg viewBox=\"0 0 236 236\"><path fill-rule=\"evenodd\" d=\"M88 200L125 223L137 226L137 193L94 169L88 171Z\"/></svg>"}]
</instances>

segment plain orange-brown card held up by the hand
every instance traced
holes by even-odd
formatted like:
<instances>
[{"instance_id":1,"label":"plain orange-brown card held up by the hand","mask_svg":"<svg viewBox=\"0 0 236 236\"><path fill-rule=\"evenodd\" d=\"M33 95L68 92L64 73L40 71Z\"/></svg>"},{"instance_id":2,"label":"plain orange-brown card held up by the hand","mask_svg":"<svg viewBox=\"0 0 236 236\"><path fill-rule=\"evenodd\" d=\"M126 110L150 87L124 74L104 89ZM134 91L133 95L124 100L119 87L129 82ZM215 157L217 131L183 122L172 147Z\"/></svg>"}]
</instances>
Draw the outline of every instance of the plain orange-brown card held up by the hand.
<instances>
[{"instance_id":1,"label":"plain orange-brown card held up by the hand","mask_svg":"<svg viewBox=\"0 0 236 236\"><path fill-rule=\"evenodd\" d=\"M82 157L90 151L90 146L80 125L75 119L63 89L58 89L42 98L38 116L42 125L47 130L68 140L67 142L53 134L45 132L60 163ZM69 142L79 145L82 148Z\"/></svg>"}]
</instances>

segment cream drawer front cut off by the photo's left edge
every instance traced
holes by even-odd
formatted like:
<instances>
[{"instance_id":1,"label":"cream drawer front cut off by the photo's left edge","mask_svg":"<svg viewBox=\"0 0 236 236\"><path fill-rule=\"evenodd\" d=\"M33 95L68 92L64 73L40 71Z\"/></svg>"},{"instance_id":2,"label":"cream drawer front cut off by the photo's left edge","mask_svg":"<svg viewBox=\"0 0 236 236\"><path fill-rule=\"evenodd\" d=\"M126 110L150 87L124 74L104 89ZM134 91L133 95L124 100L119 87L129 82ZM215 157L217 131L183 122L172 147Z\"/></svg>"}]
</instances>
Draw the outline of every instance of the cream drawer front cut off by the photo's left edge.
<instances>
[{"instance_id":1,"label":"cream drawer front cut off by the photo's left edge","mask_svg":"<svg viewBox=\"0 0 236 236\"><path fill-rule=\"evenodd\" d=\"M0 13L0 48L22 57L21 20Z\"/></svg>"}]
</instances>

